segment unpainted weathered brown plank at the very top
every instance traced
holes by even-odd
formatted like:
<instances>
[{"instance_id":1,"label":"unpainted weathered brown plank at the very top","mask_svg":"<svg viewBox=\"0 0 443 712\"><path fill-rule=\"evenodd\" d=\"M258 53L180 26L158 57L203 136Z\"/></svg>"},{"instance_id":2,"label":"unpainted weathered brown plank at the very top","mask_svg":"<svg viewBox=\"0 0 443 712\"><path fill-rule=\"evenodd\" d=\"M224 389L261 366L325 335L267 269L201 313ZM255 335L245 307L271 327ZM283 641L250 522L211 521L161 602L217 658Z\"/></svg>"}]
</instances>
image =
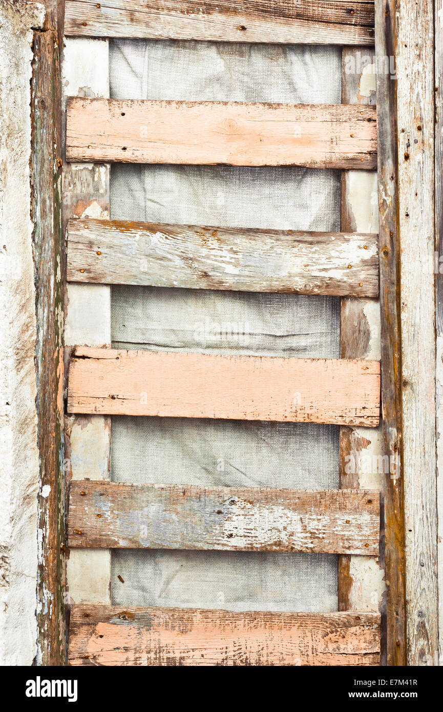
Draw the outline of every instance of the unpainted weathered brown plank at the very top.
<instances>
[{"instance_id":1,"label":"unpainted weathered brown plank at the very top","mask_svg":"<svg viewBox=\"0 0 443 712\"><path fill-rule=\"evenodd\" d=\"M66 34L373 45L374 3L345 0L66 1Z\"/></svg>"}]
</instances>

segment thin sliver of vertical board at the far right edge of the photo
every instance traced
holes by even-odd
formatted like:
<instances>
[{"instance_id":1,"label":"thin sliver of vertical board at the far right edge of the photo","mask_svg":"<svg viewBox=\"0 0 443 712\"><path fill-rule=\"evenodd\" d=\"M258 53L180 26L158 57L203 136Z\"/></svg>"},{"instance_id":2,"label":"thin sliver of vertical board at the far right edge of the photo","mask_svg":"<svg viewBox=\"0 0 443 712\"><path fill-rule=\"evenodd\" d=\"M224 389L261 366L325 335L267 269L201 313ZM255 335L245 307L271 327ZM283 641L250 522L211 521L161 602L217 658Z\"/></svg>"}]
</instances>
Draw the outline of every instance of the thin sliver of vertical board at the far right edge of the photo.
<instances>
[{"instance_id":1,"label":"thin sliver of vertical board at the far right edge of the photo","mask_svg":"<svg viewBox=\"0 0 443 712\"><path fill-rule=\"evenodd\" d=\"M434 5L435 47L435 323L437 333L437 515L439 664L443 664L443 0Z\"/></svg>"}]
</instances>

